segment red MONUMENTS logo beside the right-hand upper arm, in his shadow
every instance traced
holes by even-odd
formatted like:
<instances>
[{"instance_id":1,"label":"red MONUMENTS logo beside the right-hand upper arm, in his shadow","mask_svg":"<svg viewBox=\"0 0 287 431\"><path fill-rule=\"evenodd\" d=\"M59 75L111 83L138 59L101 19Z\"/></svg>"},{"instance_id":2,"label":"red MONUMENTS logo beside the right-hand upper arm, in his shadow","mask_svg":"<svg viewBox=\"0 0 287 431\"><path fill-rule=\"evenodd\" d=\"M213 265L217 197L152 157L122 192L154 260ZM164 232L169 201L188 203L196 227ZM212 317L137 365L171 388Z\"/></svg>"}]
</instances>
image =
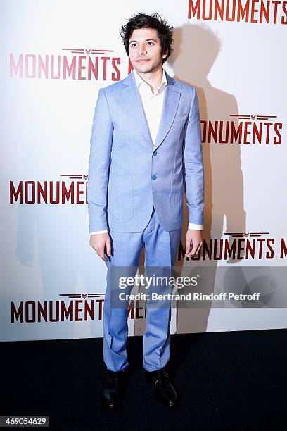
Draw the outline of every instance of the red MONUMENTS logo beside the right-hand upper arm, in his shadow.
<instances>
[{"instance_id":1,"label":"red MONUMENTS logo beside the right-hand upper arm, in his shadow","mask_svg":"<svg viewBox=\"0 0 287 431\"><path fill-rule=\"evenodd\" d=\"M277 115L229 114L234 120L201 120L203 143L274 144L282 142L283 123Z\"/></svg>"}]
</instances>

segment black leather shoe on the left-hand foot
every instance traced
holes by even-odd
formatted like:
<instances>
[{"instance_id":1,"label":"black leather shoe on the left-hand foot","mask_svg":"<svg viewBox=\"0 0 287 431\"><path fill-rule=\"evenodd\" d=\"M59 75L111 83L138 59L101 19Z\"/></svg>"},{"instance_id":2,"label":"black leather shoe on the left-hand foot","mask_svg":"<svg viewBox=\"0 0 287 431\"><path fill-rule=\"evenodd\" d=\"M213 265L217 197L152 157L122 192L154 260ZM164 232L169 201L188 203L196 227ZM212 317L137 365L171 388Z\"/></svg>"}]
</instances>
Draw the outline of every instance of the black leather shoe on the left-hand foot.
<instances>
[{"instance_id":1,"label":"black leather shoe on the left-hand foot","mask_svg":"<svg viewBox=\"0 0 287 431\"><path fill-rule=\"evenodd\" d=\"M101 399L110 410L120 406L127 389L127 368L123 371L106 370Z\"/></svg>"}]
</instances>

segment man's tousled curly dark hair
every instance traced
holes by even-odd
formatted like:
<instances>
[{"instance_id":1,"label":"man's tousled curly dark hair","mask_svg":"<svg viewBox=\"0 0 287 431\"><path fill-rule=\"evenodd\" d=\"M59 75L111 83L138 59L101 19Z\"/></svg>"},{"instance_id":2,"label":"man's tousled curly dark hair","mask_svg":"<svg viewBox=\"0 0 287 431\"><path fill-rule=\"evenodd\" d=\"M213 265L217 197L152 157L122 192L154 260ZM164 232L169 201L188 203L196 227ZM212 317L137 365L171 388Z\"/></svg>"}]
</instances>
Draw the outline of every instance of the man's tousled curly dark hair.
<instances>
[{"instance_id":1,"label":"man's tousled curly dark hair","mask_svg":"<svg viewBox=\"0 0 287 431\"><path fill-rule=\"evenodd\" d=\"M165 58L162 58L162 63L167 61L170 54L172 54L172 34L174 27L167 24L167 20L162 18L157 12L148 15L146 13L136 13L129 18L126 25L122 25L120 35L122 42L125 45L127 56L129 56L129 39L132 36L132 32L136 28L154 28L158 32L158 39L160 39L161 53L165 54L168 49L168 54Z\"/></svg>"}]
</instances>

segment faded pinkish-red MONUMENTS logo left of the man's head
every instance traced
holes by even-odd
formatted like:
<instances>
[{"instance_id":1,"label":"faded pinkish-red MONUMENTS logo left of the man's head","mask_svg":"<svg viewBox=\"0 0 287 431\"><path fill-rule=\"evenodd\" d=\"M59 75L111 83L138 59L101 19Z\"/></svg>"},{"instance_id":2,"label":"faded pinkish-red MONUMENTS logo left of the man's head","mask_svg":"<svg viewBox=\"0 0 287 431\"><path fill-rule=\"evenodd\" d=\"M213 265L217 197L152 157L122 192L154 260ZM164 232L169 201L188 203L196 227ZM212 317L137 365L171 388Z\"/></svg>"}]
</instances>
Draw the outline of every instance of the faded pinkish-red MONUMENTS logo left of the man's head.
<instances>
[{"instance_id":1,"label":"faded pinkish-red MONUMENTS logo left of the man's head","mask_svg":"<svg viewBox=\"0 0 287 431\"><path fill-rule=\"evenodd\" d=\"M35 80L119 81L113 49L62 48L60 54L10 54L9 76Z\"/></svg>"}]
</instances>

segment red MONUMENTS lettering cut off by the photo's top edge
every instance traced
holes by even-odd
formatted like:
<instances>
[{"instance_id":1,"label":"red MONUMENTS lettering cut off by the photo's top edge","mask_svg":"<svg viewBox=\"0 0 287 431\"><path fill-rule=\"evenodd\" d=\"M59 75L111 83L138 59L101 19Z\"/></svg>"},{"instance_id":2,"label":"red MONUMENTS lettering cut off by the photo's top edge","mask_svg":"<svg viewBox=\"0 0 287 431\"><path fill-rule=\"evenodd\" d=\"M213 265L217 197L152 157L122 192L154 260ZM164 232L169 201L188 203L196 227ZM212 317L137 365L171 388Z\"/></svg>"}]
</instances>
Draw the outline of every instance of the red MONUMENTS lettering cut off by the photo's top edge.
<instances>
[{"instance_id":1,"label":"red MONUMENTS lettering cut off by the photo's top edge","mask_svg":"<svg viewBox=\"0 0 287 431\"><path fill-rule=\"evenodd\" d=\"M189 0L188 18L286 25L287 1Z\"/></svg>"}]
</instances>

